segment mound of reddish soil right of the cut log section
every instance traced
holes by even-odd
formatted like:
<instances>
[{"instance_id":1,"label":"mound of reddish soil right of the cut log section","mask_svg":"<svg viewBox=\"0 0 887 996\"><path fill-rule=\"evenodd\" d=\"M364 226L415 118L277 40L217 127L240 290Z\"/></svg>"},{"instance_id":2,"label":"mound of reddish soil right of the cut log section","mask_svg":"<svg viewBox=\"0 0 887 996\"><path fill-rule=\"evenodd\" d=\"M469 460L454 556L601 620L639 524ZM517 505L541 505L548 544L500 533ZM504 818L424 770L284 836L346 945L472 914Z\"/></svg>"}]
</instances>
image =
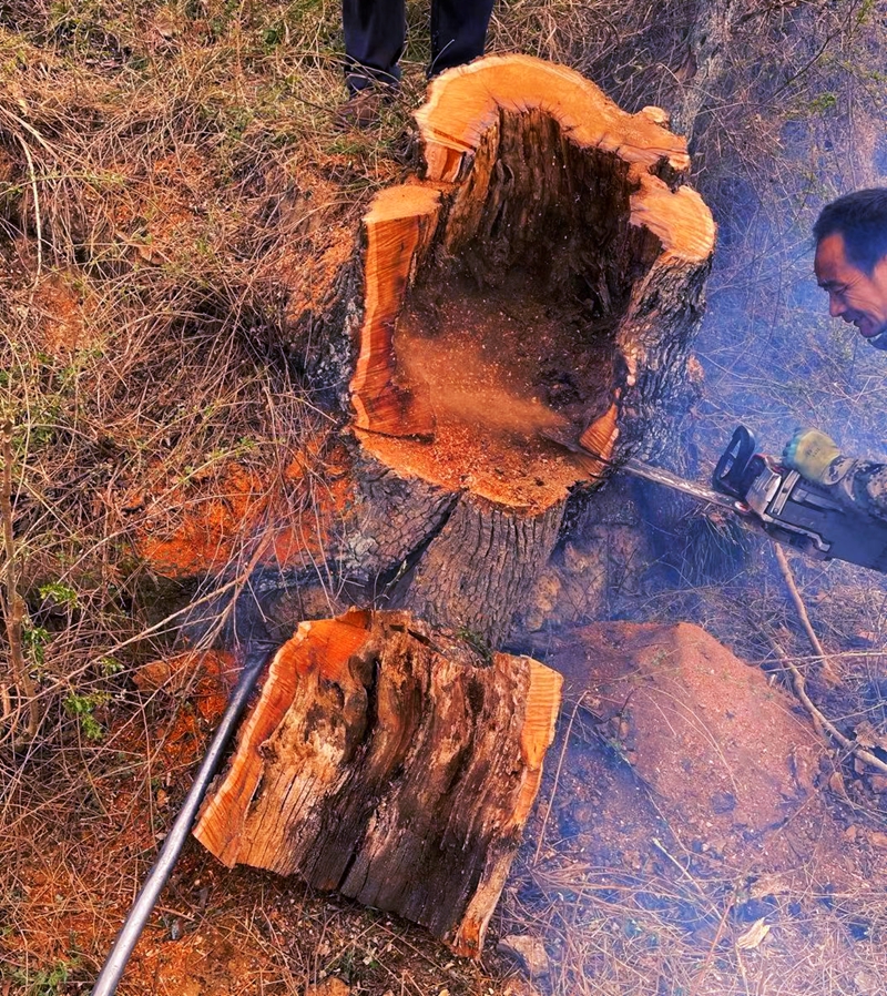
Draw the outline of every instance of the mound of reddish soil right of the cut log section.
<instances>
[{"instance_id":1,"label":"mound of reddish soil right of the cut log section","mask_svg":"<svg viewBox=\"0 0 887 996\"><path fill-rule=\"evenodd\" d=\"M825 750L759 669L689 623L587 627L549 663L687 848L742 866L758 845L773 865L786 835L767 836L804 822Z\"/></svg>"}]
</instances>

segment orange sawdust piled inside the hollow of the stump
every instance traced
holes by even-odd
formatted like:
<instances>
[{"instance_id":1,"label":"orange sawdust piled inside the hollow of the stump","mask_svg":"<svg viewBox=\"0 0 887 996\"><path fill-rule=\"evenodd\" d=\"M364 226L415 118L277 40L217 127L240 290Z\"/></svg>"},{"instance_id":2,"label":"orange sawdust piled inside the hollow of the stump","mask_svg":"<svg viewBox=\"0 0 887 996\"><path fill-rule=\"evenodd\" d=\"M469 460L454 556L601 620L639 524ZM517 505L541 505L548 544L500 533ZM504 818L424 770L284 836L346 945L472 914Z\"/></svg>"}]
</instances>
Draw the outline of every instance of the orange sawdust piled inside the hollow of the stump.
<instances>
[{"instance_id":1,"label":"orange sawdust piled inside the hollow of the stump","mask_svg":"<svg viewBox=\"0 0 887 996\"><path fill-rule=\"evenodd\" d=\"M402 383L429 397L435 437L360 433L364 447L399 470L511 507L562 500L587 475L547 434L578 444L609 407L614 375L608 331L560 311L520 272L482 289L463 274L427 276L394 345Z\"/></svg>"}]
</instances>

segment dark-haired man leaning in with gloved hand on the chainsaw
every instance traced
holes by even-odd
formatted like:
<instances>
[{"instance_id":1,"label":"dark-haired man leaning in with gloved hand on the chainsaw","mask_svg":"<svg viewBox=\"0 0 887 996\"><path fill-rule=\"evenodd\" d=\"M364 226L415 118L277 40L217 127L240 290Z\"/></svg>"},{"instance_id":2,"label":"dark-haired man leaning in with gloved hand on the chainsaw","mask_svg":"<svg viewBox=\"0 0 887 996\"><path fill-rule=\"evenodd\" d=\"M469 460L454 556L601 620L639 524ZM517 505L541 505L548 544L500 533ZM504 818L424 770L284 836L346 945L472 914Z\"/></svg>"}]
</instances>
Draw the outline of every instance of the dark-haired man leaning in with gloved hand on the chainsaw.
<instances>
[{"instance_id":1,"label":"dark-haired man leaning in with gloved hand on the chainsaw","mask_svg":"<svg viewBox=\"0 0 887 996\"><path fill-rule=\"evenodd\" d=\"M813 227L814 270L828 311L887 350L887 189L861 190L827 204ZM783 454L807 480L835 488L848 504L887 518L887 465L845 457L817 429L798 429Z\"/></svg>"}]
</instances>

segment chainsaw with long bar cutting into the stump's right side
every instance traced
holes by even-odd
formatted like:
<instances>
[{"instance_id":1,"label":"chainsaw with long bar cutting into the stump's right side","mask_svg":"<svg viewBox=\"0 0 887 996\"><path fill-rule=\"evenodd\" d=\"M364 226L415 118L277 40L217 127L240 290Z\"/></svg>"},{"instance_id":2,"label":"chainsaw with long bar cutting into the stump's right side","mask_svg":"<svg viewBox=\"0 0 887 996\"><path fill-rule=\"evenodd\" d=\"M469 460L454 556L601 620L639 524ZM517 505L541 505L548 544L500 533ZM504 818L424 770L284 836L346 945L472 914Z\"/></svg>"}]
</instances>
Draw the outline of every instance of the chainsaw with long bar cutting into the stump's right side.
<instances>
[{"instance_id":1,"label":"chainsaw with long bar cutting into the stump's right side","mask_svg":"<svg viewBox=\"0 0 887 996\"><path fill-rule=\"evenodd\" d=\"M887 573L887 521L843 505L827 488L756 453L745 426L733 433L712 488L630 459L622 469L728 509L753 529L818 560L846 560Z\"/></svg>"}]
</instances>

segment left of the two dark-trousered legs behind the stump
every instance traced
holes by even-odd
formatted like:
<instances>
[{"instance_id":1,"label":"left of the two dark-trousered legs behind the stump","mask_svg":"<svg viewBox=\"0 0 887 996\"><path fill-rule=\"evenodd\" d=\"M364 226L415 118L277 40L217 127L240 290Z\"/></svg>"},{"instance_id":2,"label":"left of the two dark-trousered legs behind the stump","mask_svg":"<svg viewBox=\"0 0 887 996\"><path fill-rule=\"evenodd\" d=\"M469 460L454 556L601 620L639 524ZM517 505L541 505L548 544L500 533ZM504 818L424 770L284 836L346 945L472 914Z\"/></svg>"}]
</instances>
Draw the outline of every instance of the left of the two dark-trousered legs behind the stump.
<instances>
[{"instance_id":1,"label":"left of the two dark-trousered legs behind the stump","mask_svg":"<svg viewBox=\"0 0 887 996\"><path fill-rule=\"evenodd\" d=\"M405 0L343 0L345 77L356 93L374 83L395 85L406 33Z\"/></svg>"}]
</instances>

